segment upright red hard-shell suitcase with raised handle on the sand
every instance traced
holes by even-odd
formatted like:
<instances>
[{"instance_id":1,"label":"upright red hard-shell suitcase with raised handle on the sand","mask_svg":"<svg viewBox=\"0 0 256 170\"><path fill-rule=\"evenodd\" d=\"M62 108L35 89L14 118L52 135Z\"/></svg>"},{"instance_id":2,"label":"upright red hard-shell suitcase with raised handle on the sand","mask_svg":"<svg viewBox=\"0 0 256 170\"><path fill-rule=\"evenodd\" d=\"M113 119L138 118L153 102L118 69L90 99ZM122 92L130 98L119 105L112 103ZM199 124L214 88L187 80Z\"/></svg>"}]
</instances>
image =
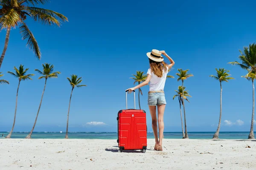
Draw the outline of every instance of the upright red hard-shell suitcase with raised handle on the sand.
<instances>
[{"instance_id":1,"label":"upright red hard-shell suitcase with raised handle on the sand","mask_svg":"<svg viewBox=\"0 0 256 170\"><path fill-rule=\"evenodd\" d=\"M140 150L145 153L147 148L146 112L135 109L135 91L134 109L127 109L127 91L125 91L125 96L126 110L120 110L117 116L118 152Z\"/></svg>"}]
</instances>

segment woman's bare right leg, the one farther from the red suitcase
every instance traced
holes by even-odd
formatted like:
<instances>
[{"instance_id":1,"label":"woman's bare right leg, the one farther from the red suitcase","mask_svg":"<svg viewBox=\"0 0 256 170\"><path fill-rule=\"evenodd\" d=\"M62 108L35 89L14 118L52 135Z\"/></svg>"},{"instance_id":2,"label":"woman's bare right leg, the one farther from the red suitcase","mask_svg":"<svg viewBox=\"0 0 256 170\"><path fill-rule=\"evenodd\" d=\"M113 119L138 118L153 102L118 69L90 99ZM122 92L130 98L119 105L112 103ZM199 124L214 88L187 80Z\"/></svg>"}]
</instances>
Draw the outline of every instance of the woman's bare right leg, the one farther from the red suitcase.
<instances>
[{"instance_id":1,"label":"woman's bare right leg, the one farther from the red suitcase","mask_svg":"<svg viewBox=\"0 0 256 170\"><path fill-rule=\"evenodd\" d=\"M158 114L158 127L159 127L159 147L158 150L162 149L162 143L163 143L163 129L164 129L164 123L163 123L163 113L165 110L166 105L157 105L157 114Z\"/></svg>"}]
</instances>

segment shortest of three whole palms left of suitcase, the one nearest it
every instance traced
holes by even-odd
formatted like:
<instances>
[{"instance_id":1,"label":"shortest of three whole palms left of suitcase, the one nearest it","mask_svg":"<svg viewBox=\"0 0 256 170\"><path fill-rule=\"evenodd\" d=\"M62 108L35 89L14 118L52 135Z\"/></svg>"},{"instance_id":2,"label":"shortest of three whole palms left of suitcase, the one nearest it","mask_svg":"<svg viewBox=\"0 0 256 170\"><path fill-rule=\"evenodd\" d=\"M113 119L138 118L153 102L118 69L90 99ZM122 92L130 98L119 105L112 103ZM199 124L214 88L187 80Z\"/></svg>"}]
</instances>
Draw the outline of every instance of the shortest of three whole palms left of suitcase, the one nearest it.
<instances>
[{"instance_id":1,"label":"shortest of three whole palms left of suitcase, the one nearest it","mask_svg":"<svg viewBox=\"0 0 256 170\"><path fill-rule=\"evenodd\" d=\"M71 94L70 94L70 103L71 103L71 97L72 97L72 93L73 93L73 90L75 87L83 87L83 86L86 86L86 85L79 85L83 80L82 80L82 77L79 77L77 78L77 75L74 75L72 74L71 75L71 79L69 77L67 77L67 80L70 82L70 85L72 87L72 90L71 90ZM66 136L65 136L65 139L68 139L68 118L69 118L69 111L70 111L70 104L68 106L68 112L67 112L67 129L66 129Z\"/></svg>"}]
</instances>

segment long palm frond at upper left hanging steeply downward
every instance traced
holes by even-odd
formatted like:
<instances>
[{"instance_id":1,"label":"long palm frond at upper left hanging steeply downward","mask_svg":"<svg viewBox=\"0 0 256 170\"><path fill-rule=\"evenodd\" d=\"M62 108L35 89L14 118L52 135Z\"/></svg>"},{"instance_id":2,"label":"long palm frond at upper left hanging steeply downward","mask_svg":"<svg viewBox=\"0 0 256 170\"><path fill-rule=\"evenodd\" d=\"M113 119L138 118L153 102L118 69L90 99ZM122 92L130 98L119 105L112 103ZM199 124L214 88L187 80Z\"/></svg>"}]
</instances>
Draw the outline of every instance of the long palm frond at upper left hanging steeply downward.
<instances>
[{"instance_id":1,"label":"long palm frond at upper left hanging steeply downward","mask_svg":"<svg viewBox=\"0 0 256 170\"><path fill-rule=\"evenodd\" d=\"M32 34L32 32L29 30L29 28L26 26L24 22L22 22L22 26L20 26L20 34L22 35L23 40L28 39L27 45L29 46L30 49L33 50L35 56L38 59L41 59L41 52L38 43L35 40L35 37Z\"/></svg>"}]
</instances>

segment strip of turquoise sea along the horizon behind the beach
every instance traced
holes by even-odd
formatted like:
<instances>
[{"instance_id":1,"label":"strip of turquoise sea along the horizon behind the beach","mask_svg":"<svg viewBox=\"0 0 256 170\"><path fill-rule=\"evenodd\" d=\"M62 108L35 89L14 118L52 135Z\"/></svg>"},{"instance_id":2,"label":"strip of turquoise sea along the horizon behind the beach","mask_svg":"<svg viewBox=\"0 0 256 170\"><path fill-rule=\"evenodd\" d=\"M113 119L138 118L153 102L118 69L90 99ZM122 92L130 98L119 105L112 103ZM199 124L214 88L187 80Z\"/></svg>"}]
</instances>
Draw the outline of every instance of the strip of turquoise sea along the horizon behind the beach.
<instances>
[{"instance_id":1,"label":"strip of turquoise sea along the horizon behind the beach","mask_svg":"<svg viewBox=\"0 0 256 170\"><path fill-rule=\"evenodd\" d=\"M189 132L189 139L212 139L215 132ZM0 137L8 132L0 132ZM28 132L14 132L12 138L25 138ZM249 132L220 132L220 139L247 139ZM69 132L70 139L117 139L116 132ZM63 139L65 132L33 132L33 139ZM181 139L181 132L164 132L165 139ZM154 139L154 133L148 133L148 139Z\"/></svg>"}]
</instances>

